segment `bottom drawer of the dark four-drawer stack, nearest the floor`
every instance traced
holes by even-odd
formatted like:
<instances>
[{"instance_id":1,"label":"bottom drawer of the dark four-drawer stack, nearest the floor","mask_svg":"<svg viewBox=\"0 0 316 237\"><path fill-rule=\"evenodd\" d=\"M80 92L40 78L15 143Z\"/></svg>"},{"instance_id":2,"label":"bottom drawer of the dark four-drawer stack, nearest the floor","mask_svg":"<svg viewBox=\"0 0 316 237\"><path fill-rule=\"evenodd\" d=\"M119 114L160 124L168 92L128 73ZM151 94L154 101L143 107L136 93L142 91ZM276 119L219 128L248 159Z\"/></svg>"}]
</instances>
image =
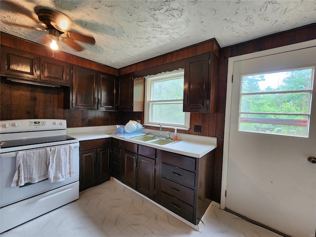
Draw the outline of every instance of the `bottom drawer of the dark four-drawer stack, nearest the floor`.
<instances>
[{"instance_id":1,"label":"bottom drawer of the dark four-drawer stack, nearest the floor","mask_svg":"<svg viewBox=\"0 0 316 237\"><path fill-rule=\"evenodd\" d=\"M160 204L177 215L193 223L193 206L163 192L160 193Z\"/></svg>"}]
</instances>

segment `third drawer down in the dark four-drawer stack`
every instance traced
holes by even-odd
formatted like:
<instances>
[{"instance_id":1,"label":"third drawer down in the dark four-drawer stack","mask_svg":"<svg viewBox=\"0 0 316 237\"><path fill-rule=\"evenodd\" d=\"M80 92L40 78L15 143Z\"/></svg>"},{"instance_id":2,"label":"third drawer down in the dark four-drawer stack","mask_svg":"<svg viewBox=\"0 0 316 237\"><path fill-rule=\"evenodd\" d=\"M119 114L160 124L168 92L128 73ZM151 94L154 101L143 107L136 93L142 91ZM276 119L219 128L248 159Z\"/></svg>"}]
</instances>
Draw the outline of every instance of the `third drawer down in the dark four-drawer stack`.
<instances>
[{"instance_id":1,"label":"third drawer down in the dark four-drawer stack","mask_svg":"<svg viewBox=\"0 0 316 237\"><path fill-rule=\"evenodd\" d=\"M194 205L194 190L172 182L168 179L161 179L161 191L176 197L190 205Z\"/></svg>"}]
</instances>

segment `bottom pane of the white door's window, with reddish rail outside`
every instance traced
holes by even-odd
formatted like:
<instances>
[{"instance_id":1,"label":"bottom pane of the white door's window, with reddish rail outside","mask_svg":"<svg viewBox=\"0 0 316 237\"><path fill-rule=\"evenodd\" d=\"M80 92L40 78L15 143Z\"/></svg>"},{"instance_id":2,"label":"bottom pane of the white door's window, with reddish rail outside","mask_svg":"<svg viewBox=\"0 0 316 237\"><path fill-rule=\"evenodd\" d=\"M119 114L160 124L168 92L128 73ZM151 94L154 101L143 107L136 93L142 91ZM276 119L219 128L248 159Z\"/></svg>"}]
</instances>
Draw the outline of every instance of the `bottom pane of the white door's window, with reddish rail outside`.
<instances>
[{"instance_id":1,"label":"bottom pane of the white door's window, with reddish rail outside","mask_svg":"<svg viewBox=\"0 0 316 237\"><path fill-rule=\"evenodd\" d=\"M239 131L308 136L308 116L241 114Z\"/></svg>"}]
</instances>

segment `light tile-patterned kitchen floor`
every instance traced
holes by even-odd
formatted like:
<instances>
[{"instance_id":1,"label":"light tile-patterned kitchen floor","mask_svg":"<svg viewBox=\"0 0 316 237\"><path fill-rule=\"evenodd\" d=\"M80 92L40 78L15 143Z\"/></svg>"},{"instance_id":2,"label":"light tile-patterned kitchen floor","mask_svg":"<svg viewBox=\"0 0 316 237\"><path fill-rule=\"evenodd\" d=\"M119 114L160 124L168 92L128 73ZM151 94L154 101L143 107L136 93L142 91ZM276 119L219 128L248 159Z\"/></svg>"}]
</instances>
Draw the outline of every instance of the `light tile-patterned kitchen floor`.
<instances>
[{"instance_id":1,"label":"light tile-patterned kitchen floor","mask_svg":"<svg viewBox=\"0 0 316 237\"><path fill-rule=\"evenodd\" d=\"M1 237L279 237L212 206L196 231L116 181L1 234Z\"/></svg>"}]
</instances>

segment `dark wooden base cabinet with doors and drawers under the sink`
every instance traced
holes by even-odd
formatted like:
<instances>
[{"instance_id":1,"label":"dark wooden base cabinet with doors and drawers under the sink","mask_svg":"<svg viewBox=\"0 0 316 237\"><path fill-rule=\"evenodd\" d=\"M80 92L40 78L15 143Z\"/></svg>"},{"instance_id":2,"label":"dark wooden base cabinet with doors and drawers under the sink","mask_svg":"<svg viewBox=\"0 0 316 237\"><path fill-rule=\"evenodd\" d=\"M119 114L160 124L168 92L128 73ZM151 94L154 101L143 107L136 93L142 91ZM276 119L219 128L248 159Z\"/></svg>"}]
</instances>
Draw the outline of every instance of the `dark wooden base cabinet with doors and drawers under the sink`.
<instances>
[{"instance_id":1,"label":"dark wooden base cabinet with doors and drawers under the sink","mask_svg":"<svg viewBox=\"0 0 316 237\"><path fill-rule=\"evenodd\" d=\"M113 140L114 149L113 176L194 225L199 223L213 197L214 151L194 158L118 139Z\"/></svg>"}]
</instances>

